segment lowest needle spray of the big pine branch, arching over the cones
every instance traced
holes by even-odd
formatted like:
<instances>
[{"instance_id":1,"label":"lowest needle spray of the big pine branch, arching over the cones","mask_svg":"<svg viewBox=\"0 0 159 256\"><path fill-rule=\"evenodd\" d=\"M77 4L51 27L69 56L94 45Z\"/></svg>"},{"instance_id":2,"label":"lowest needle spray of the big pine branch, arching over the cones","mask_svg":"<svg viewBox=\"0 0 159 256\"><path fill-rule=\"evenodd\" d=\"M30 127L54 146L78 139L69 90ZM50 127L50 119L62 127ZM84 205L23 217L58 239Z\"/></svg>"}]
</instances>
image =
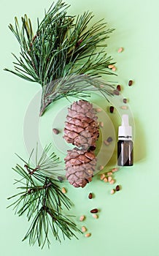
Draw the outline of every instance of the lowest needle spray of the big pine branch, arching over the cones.
<instances>
[{"instance_id":1,"label":"lowest needle spray of the big pine branch, arching over the cones","mask_svg":"<svg viewBox=\"0 0 159 256\"><path fill-rule=\"evenodd\" d=\"M69 75L54 80L43 88L40 116L50 103L63 97L84 99L90 96L90 91L99 91L107 99L108 95L113 96L114 89L110 83L90 75Z\"/></svg>"}]
</instances>

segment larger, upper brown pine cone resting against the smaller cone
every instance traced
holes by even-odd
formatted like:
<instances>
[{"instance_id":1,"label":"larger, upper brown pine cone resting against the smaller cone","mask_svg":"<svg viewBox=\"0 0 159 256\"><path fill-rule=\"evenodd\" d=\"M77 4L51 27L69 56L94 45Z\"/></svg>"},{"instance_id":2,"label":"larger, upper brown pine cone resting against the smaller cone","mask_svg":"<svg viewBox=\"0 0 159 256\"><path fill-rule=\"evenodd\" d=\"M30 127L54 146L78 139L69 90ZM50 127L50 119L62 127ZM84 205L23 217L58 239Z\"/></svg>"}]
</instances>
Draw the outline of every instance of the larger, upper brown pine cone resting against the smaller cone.
<instances>
[{"instance_id":1,"label":"larger, upper brown pine cone resting against the smaller cone","mask_svg":"<svg viewBox=\"0 0 159 256\"><path fill-rule=\"evenodd\" d=\"M85 100L74 102L66 119L63 138L77 147L94 150L99 132L93 105Z\"/></svg>"}]
</instances>

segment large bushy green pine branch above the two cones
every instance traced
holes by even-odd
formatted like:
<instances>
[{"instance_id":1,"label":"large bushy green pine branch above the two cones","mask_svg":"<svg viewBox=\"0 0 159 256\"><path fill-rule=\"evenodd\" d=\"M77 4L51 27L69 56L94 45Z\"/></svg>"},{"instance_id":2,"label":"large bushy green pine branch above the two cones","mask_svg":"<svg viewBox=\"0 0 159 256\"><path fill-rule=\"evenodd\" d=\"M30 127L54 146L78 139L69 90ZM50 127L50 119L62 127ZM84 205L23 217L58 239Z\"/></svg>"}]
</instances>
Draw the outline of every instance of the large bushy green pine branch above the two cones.
<instances>
[{"instance_id":1,"label":"large bushy green pine branch above the two cones","mask_svg":"<svg viewBox=\"0 0 159 256\"><path fill-rule=\"evenodd\" d=\"M55 92L54 97L52 94L52 99L41 106L41 115L47 105L63 96L86 95L83 87L77 92L75 83L72 91L68 91L66 80L69 80L70 76L84 74L89 75L93 80L100 78L101 75L112 75L108 66L114 62L110 56L107 56L106 39L114 29L107 29L104 20L99 20L90 26L93 19L91 12L84 12L74 17L67 14L68 8L69 5L62 0L54 3L45 13L41 23L38 20L36 33L33 32L31 20L27 15L21 19L21 27L18 18L15 18L15 26L9 25L9 29L20 44L20 57L13 55L16 59L15 71L5 70L25 80L40 83L42 102L47 98L45 91L50 83L57 83L57 80L64 81L63 86L57 86L61 91L56 90L57 94ZM92 86L95 83L96 80ZM85 86L87 91L90 90L90 83L85 83ZM107 93L100 91L102 94Z\"/></svg>"}]
</instances>

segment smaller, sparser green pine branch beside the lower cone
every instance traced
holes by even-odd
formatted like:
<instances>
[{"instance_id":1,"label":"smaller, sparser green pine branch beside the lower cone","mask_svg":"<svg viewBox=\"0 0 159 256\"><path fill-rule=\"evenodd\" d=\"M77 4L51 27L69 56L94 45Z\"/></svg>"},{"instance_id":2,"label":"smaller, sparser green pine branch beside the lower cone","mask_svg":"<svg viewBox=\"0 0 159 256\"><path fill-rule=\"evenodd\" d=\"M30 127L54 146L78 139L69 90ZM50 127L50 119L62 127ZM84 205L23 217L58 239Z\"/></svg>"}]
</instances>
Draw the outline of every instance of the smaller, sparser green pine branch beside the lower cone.
<instances>
[{"instance_id":1,"label":"smaller, sparser green pine branch beside the lower cone","mask_svg":"<svg viewBox=\"0 0 159 256\"><path fill-rule=\"evenodd\" d=\"M61 241L61 235L63 238L71 239L73 236L77 238L75 233L80 232L77 225L61 213L63 206L67 210L71 208L71 201L61 192L59 181L55 179L56 167L60 164L59 159L54 153L48 155L49 151L50 145L44 148L41 157L37 160L36 147L34 166L30 163L31 157L28 162L20 157L24 166L16 165L13 168L20 176L20 179L16 180L20 192L8 198L14 199L8 207L12 206L18 216L26 214L28 221L31 222L23 241L28 239L31 245L37 242L42 248L45 243L50 246L50 233L55 240Z\"/></svg>"}]
</instances>

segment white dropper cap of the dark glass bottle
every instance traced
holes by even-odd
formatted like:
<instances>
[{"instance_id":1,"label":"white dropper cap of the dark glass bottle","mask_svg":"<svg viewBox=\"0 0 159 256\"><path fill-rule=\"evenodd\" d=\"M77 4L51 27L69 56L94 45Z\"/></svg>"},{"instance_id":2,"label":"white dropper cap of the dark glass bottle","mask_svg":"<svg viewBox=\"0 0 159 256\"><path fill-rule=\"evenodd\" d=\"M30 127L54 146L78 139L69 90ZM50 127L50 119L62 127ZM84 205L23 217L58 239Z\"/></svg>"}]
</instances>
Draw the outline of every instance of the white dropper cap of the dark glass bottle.
<instances>
[{"instance_id":1,"label":"white dropper cap of the dark glass bottle","mask_svg":"<svg viewBox=\"0 0 159 256\"><path fill-rule=\"evenodd\" d=\"M122 116L122 125L118 129L118 140L131 140L132 127L128 124L128 115Z\"/></svg>"}]
</instances>

